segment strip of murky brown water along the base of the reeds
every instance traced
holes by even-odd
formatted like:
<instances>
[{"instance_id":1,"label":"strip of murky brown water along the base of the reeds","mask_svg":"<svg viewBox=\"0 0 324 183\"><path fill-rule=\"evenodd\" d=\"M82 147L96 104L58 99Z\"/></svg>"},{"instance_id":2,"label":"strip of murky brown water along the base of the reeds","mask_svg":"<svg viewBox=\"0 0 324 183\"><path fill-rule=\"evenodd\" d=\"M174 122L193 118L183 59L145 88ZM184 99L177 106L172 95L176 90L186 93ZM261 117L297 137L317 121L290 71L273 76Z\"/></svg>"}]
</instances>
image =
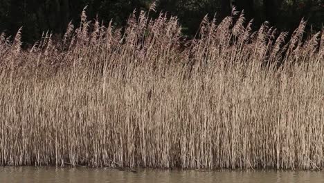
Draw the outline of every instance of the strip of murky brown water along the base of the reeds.
<instances>
[{"instance_id":1,"label":"strip of murky brown water along the base of the reeds","mask_svg":"<svg viewBox=\"0 0 324 183\"><path fill-rule=\"evenodd\" d=\"M315 171L155 171L138 173L105 168L0 167L0 182L324 182L324 172Z\"/></svg>"}]
</instances>

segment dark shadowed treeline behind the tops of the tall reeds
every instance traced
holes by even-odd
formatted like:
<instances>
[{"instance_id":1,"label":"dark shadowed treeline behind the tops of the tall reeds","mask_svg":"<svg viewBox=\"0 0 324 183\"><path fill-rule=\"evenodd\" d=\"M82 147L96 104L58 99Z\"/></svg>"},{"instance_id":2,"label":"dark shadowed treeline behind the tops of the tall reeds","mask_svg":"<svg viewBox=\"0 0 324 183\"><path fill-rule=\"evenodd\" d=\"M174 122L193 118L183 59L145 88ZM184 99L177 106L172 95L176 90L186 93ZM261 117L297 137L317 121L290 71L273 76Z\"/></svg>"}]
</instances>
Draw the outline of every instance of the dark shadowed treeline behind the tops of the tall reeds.
<instances>
[{"instance_id":1,"label":"dark shadowed treeline behind the tops of the tall reeds","mask_svg":"<svg viewBox=\"0 0 324 183\"><path fill-rule=\"evenodd\" d=\"M56 35L64 33L69 21L78 24L80 12L88 6L90 19L100 18L106 24L110 19L122 26L127 17L136 10L147 10L152 0L1 0L0 33L14 35L23 26L24 42L39 40L43 31ZM177 15L183 33L195 35L204 15L217 16L219 21L231 14L232 6L244 10L246 19L254 19L255 25L269 21L280 30L296 28L305 17L313 30L320 30L324 22L324 0L160 0L159 11Z\"/></svg>"}]
</instances>

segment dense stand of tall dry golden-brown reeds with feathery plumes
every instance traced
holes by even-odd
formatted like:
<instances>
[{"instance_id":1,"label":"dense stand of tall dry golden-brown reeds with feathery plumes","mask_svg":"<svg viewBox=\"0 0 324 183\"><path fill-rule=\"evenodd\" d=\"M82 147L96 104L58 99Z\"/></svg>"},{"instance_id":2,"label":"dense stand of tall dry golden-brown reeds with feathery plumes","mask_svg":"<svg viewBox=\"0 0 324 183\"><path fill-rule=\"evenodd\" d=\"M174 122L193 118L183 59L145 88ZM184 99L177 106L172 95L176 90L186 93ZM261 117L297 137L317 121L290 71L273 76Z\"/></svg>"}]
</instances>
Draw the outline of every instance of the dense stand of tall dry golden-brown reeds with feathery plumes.
<instances>
[{"instance_id":1,"label":"dense stand of tall dry golden-brown reeds with feathery plumes","mask_svg":"<svg viewBox=\"0 0 324 183\"><path fill-rule=\"evenodd\" d=\"M84 11L28 50L2 34L0 164L323 168L324 34L244 21L183 40L177 17L118 29Z\"/></svg>"}]
</instances>

